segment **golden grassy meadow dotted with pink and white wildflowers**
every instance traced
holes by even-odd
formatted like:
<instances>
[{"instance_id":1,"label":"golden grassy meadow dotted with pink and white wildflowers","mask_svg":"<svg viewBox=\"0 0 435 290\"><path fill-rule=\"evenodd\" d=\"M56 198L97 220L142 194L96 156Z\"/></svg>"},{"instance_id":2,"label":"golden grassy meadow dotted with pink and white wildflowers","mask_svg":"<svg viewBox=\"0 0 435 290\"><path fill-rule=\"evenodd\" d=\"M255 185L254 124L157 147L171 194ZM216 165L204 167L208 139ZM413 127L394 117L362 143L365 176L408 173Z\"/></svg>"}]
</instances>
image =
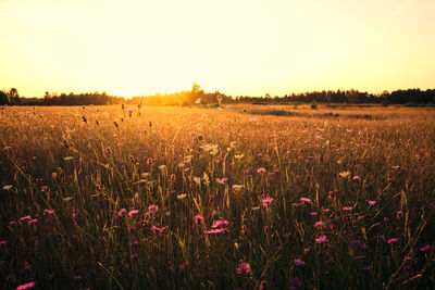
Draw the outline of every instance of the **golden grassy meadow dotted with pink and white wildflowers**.
<instances>
[{"instance_id":1,"label":"golden grassy meadow dotted with pink and white wildflowers","mask_svg":"<svg viewBox=\"0 0 435 290\"><path fill-rule=\"evenodd\" d=\"M435 111L2 108L0 283L435 288Z\"/></svg>"}]
</instances>

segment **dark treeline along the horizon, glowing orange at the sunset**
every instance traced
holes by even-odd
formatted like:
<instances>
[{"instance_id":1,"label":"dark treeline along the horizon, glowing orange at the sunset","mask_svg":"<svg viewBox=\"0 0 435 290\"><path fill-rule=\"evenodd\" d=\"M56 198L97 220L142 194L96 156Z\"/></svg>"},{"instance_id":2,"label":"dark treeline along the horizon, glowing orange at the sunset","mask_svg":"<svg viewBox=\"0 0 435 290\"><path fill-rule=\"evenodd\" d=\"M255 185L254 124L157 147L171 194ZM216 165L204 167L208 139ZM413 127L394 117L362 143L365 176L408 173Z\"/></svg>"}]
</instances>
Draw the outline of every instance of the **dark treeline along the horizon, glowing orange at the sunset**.
<instances>
[{"instance_id":1,"label":"dark treeline along the horizon, glowing orange at the sunset","mask_svg":"<svg viewBox=\"0 0 435 290\"><path fill-rule=\"evenodd\" d=\"M235 98L226 96L219 91L206 92L195 83L191 90L184 90L174 93L157 93L153 96L133 97L125 99L123 97L109 96L105 92L89 92L69 94L62 92L46 92L45 98L21 98L16 88L9 91L0 90L0 105L102 105L120 103L141 103L144 105L215 105L221 103L383 103L383 104L434 104L435 89L408 89L395 90L393 92L384 91L378 94L350 90L322 90L301 93L275 96L272 98L269 93L264 97L237 96Z\"/></svg>"}]
</instances>

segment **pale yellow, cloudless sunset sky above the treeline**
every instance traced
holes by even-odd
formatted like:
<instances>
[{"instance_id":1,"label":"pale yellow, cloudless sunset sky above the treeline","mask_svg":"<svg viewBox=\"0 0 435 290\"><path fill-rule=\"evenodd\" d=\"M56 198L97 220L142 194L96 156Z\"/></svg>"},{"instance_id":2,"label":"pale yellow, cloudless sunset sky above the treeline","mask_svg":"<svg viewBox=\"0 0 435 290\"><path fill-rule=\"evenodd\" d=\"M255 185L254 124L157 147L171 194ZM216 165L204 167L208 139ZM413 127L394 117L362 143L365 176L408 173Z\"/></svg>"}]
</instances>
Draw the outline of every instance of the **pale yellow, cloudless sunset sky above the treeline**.
<instances>
[{"instance_id":1,"label":"pale yellow, cloudless sunset sky above the treeline","mask_svg":"<svg viewBox=\"0 0 435 290\"><path fill-rule=\"evenodd\" d=\"M435 88L434 0L0 0L0 89Z\"/></svg>"}]
</instances>

